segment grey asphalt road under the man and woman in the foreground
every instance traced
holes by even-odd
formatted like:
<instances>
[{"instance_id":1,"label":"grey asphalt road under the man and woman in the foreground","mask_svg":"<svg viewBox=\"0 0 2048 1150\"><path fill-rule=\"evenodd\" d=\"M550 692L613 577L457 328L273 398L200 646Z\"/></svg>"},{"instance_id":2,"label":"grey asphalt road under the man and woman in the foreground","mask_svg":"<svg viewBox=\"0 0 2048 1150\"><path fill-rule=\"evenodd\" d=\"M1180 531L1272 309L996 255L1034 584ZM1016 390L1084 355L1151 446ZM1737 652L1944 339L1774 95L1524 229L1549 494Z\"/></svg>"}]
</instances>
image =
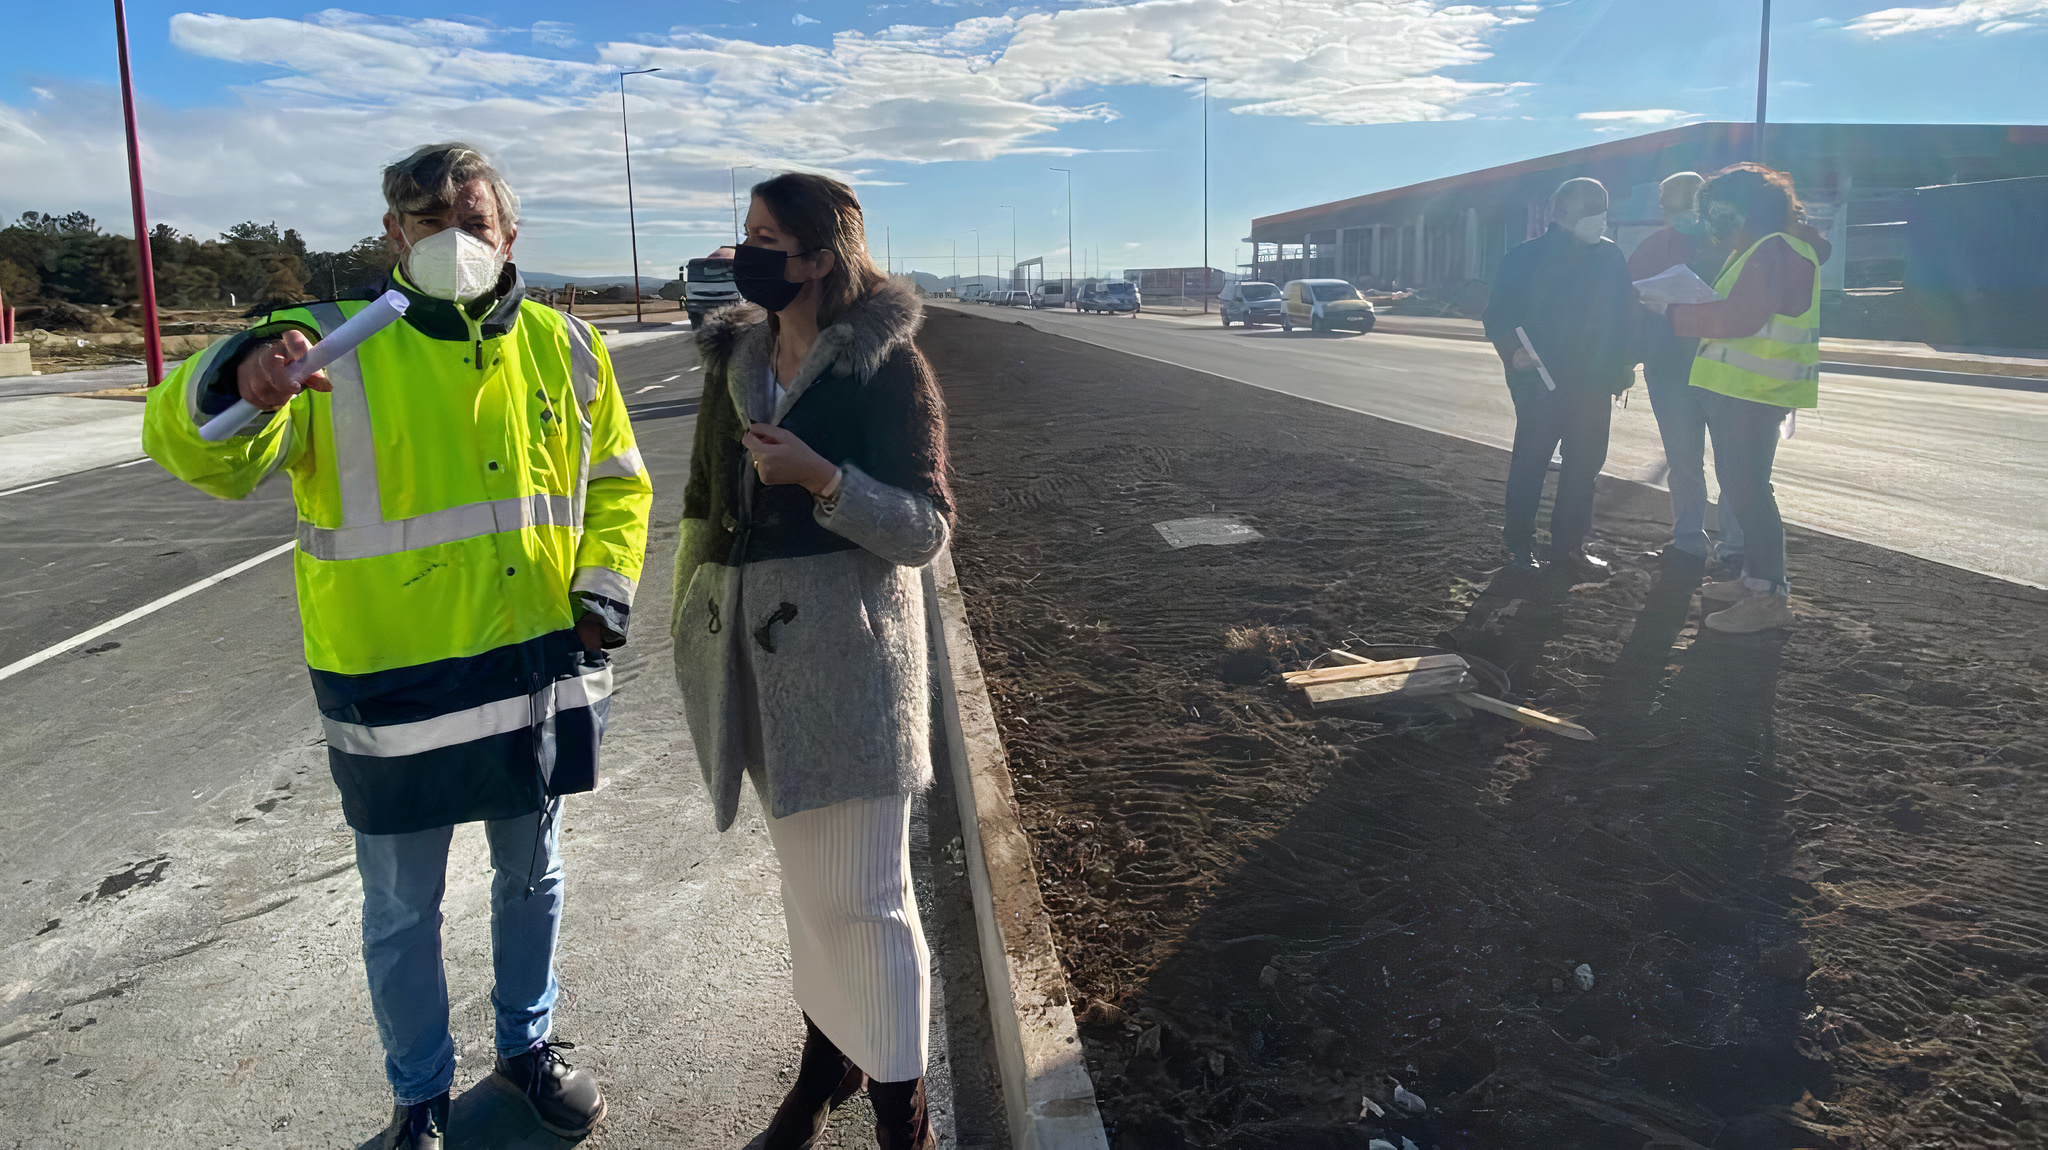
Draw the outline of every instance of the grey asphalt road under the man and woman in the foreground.
<instances>
[{"instance_id":1,"label":"grey asphalt road under the man and woman in the foreground","mask_svg":"<svg viewBox=\"0 0 2048 1150\"><path fill-rule=\"evenodd\" d=\"M741 1146L803 1023L766 829L711 829L668 671L668 583L698 381L686 338L614 356L655 532L604 784L565 804L557 1037L608 1085L588 1146ZM104 385L102 385L104 387ZM289 487L225 503L156 465L0 497L0 667L291 538ZM358 958L360 886L328 780L285 557L0 679L0 1072L8 1146L358 1146L389 1095ZM934 1113L1001 1140L965 878L913 859L932 935ZM459 1144L565 1146L487 1082L489 870L457 831L446 956ZM958 1078L958 1080L956 1080ZM479 1082L481 1080L481 1082ZM864 1107L836 1119L848 1146ZM993 1125L991 1125L993 1119Z\"/></svg>"}]
</instances>

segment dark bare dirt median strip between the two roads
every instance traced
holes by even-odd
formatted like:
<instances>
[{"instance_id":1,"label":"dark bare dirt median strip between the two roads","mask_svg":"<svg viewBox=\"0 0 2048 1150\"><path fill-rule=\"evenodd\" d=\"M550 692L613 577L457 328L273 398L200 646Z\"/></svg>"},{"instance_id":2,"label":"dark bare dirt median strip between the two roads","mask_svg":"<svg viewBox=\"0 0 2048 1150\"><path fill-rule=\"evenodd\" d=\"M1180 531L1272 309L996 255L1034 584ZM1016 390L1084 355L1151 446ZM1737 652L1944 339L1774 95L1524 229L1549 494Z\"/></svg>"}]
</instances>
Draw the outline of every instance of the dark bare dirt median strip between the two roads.
<instances>
[{"instance_id":1,"label":"dark bare dirt median strip between the two roads","mask_svg":"<svg viewBox=\"0 0 2048 1150\"><path fill-rule=\"evenodd\" d=\"M922 346L1112 1144L2048 1144L2048 593L1794 530L1798 628L1702 632L1657 491L1604 487L1612 581L1511 587L1501 452L979 315ZM1151 526L1210 514L1264 540ZM1599 741L1311 712L1276 673L1348 636Z\"/></svg>"}]
</instances>

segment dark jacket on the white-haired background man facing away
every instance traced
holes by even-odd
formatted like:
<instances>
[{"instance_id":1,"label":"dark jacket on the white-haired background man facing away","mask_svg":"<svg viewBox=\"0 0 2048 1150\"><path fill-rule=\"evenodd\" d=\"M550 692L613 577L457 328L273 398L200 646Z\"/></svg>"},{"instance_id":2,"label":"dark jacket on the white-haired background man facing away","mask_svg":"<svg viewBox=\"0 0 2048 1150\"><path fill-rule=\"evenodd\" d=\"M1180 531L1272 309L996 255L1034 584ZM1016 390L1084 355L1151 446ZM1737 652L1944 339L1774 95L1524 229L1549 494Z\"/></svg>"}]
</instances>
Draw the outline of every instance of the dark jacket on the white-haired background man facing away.
<instances>
[{"instance_id":1,"label":"dark jacket on the white-haired background man facing away","mask_svg":"<svg viewBox=\"0 0 2048 1150\"><path fill-rule=\"evenodd\" d=\"M1487 340L1507 360L1530 336L1559 389L1620 395L1636 379L1645 309L1628 280L1628 260L1612 239L1579 244L1559 223L1501 256L1487 303ZM1507 389L1542 391L1536 368L1507 370Z\"/></svg>"}]
</instances>

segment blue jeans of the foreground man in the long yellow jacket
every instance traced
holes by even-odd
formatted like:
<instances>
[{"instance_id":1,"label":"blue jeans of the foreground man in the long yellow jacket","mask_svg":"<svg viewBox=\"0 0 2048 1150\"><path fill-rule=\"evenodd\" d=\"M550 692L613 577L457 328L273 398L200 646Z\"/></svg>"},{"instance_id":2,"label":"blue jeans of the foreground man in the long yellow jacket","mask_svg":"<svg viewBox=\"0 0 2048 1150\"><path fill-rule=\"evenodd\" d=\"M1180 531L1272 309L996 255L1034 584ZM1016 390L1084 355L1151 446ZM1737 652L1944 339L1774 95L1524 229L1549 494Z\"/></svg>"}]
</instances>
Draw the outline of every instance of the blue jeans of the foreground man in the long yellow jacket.
<instances>
[{"instance_id":1,"label":"blue jeans of the foreground man in the long yellow jacket","mask_svg":"<svg viewBox=\"0 0 2048 1150\"><path fill-rule=\"evenodd\" d=\"M561 927L561 800L537 843L541 814L483 825L492 845L492 960L498 1054L547 1037L555 1007L555 933ZM449 978L440 966L440 896L449 888L455 827L410 835L356 833L362 876L362 966L399 1105L444 1095L455 1080ZM532 876L532 894L526 878Z\"/></svg>"}]
</instances>

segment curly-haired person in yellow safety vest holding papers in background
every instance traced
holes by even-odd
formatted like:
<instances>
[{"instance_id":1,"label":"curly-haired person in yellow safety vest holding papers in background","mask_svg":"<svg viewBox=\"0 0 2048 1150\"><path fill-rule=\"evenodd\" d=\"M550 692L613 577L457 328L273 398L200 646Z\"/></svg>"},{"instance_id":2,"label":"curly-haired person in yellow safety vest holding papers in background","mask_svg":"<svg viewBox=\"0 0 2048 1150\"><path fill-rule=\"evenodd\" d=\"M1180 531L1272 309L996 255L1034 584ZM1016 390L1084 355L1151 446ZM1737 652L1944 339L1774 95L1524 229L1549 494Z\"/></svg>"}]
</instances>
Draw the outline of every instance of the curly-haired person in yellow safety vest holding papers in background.
<instances>
[{"instance_id":1,"label":"curly-haired person in yellow safety vest holding papers in background","mask_svg":"<svg viewBox=\"0 0 2048 1150\"><path fill-rule=\"evenodd\" d=\"M1700 217L1731 256L1714 280L1714 303L1677 303L1667 315L1681 338L1700 338L1692 360L1706 426L1714 436L1720 497L1743 524L1743 573L1708 583L1706 616L1722 632L1792 624L1786 528L1772 493L1780 428L1792 411L1821 403L1821 260L1792 178L1737 164L1700 188Z\"/></svg>"}]
</instances>

